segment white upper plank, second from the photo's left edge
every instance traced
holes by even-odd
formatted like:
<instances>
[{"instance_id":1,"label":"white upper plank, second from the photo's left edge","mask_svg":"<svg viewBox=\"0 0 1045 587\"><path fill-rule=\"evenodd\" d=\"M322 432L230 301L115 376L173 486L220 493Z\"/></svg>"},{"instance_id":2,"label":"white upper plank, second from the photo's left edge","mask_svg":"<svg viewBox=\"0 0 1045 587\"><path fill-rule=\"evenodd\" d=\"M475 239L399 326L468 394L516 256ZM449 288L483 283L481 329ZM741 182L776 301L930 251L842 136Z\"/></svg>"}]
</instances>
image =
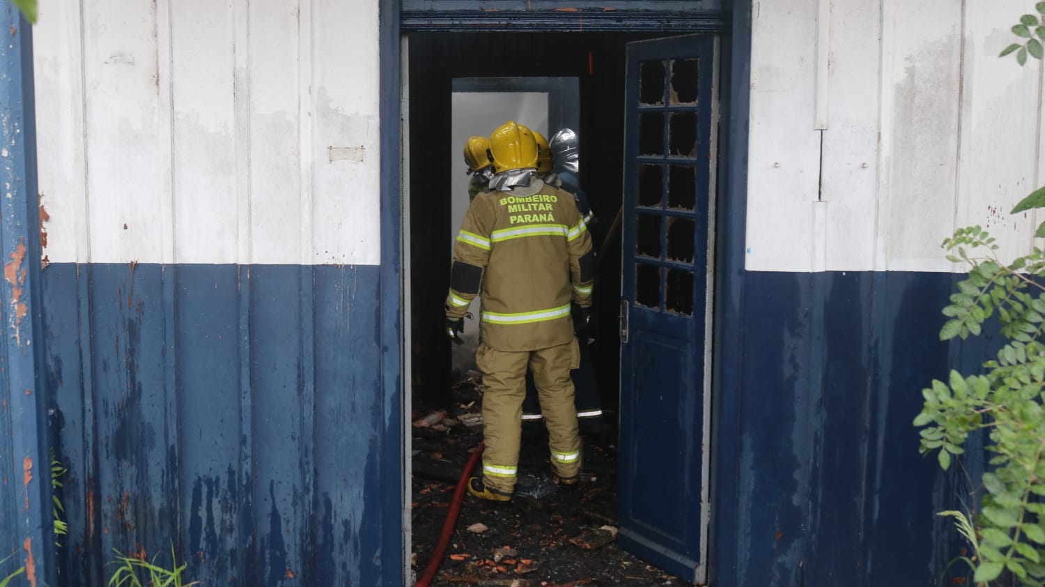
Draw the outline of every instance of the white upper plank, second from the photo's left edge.
<instances>
[{"instance_id":1,"label":"white upper plank, second from the photo's left edge","mask_svg":"<svg viewBox=\"0 0 1045 587\"><path fill-rule=\"evenodd\" d=\"M100 0L85 7L87 191L93 258L160 259L161 202L170 198L161 144L156 5ZM166 156L166 157L165 157Z\"/></svg>"}]
</instances>

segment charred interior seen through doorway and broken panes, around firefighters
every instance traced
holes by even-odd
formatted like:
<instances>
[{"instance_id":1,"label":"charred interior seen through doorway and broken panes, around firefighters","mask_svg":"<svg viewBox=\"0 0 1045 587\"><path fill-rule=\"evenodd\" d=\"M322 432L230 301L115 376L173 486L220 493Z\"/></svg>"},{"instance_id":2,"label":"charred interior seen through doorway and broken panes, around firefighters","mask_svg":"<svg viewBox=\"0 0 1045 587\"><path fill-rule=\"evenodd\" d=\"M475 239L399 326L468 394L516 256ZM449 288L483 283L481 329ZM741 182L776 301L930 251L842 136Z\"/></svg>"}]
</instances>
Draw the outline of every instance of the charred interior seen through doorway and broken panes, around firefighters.
<instances>
[{"instance_id":1,"label":"charred interior seen through doorway and broken panes, around firefighters","mask_svg":"<svg viewBox=\"0 0 1045 587\"><path fill-rule=\"evenodd\" d=\"M618 525L621 227L622 217L627 216L621 213L626 179L627 47L636 41L665 37L668 36L649 32L425 32L409 37L409 86L404 88L410 105L409 166L403 173L409 174L410 181L407 213L410 215L411 258L407 266L411 269L407 278L411 292L412 370L409 375L414 408L410 415L412 421L421 421L413 429L411 451L414 472L411 551L416 555L418 571L427 561L439 534L445 506L452 495L450 483L460 473L469 450L478 444L477 438L482 438L481 425L469 427L465 424L471 420L470 414L479 411L475 404L481 403L483 390L473 362L478 322L465 326L465 338L472 343L459 347L447 340L442 314L449 288L452 235L467 206L467 189L462 187L468 179L462 157L462 137L488 136L497 125L515 119L548 138L561 128L574 129L580 138L581 185L597 219L589 227L597 251L597 267L594 328L587 348L595 365L594 385L598 389L603 426L587 433L582 430L584 474L588 482L568 495L559 489L558 497L553 498L538 495L544 487L541 477L550 477L551 472L547 461L547 434L542 437L537 430L531 435L525 429L519 483L524 484L525 474L531 474L536 497L524 496L507 507L496 509L466 498L458 523L457 542L449 548L451 558L444 562L443 568L452 577L467 578L471 573L473 578L488 578L491 573L505 573L504 577L521 575L550 584L608 575L618 579L614 584L649 585L668 577L657 567L617 548L616 544L598 544L605 533L616 533ZM665 63L669 65L661 70L661 77L667 80L661 92L670 92L673 91L674 65ZM641 75L652 77L653 69L646 68ZM647 84L645 91L649 92L649 87L655 85ZM671 99L669 96L667 103ZM657 119L667 121L665 129L673 123L671 120L688 120L691 116L682 112L684 105L676 109L667 104L664 109ZM644 114L642 119L653 117ZM466 123L477 120L489 128L484 132ZM640 141L651 136L650 130L645 128L632 132ZM666 150L661 155L668 157L671 153ZM683 170L683 166L678 168ZM645 167L653 168L653 165ZM664 168L675 171L667 164ZM664 177L668 177L667 172ZM682 174L672 177L682 177ZM699 172L692 177L699 178ZM684 179L677 179L675 184ZM640 182L645 182L638 188L643 195L652 193L648 174L641 177ZM666 190L668 183L665 180ZM649 202L638 205L649 206ZM657 222L663 220L669 227L692 224L675 219L669 204L665 204L664 210L663 219ZM649 233L643 228L643 222L649 224L652 218L650 215L642 217L637 224L640 235ZM667 229L664 234L671 238ZM687 234L693 239L692 230ZM645 241L638 244L637 253L648 256L649 246ZM661 263L663 269L651 269L653 266L649 263L641 265L640 277L650 271L663 271L666 275L673 271L670 264L674 259L670 252ZM634 264L627 266L630 271L636 271ZM654 280L657 287L672 287L670 280L659 277ZM646 307L661 303L669 313L678 310L678 302L671 296L681 290L669 290L663 301L656 301L649 299L651 294L643 289L645 287L640 284L637 295L641 298L635 299L636 303ZM692 289L683 297L692 299ZM686 307L684 300L681 306ZM691 304L688 309L690 315L702 316L699 308L694 309ZM473 530L469 530L469 526L473 526ZM508 549L493 551L493 544ZM596 551L602 555L596 558L595 566L604 567L602 570L583 563L584 557ZM693 577L687 579L684 584L694 582Z\"/></svg>"}]
</instances>

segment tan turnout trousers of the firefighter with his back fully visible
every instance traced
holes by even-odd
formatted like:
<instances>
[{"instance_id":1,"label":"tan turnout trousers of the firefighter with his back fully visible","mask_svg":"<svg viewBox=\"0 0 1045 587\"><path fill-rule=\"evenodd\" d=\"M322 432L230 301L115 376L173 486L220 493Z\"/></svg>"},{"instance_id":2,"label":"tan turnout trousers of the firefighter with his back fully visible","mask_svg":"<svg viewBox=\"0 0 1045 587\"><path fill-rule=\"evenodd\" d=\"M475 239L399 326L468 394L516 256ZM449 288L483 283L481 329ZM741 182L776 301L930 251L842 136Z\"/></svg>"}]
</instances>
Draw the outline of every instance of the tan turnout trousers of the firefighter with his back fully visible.
<instances>
[{"instance_id":1,"label":"tan turnout trousers of the firefighter with his back fully visible","mask_svg":"<svg viewBox=\"0 0 1045 587\"><path fill-rule=\"evenodd\" d=\"M486 386L483 483L491 491L510 494L515 487L528 367L537 385L555 473L564 478L580 473L580 437L574 410L574 383L570 379L570 370L580 362L579 353L576 339L550 348L515 353L480 343L475 362Z\"/></svg>"}]
</instances>

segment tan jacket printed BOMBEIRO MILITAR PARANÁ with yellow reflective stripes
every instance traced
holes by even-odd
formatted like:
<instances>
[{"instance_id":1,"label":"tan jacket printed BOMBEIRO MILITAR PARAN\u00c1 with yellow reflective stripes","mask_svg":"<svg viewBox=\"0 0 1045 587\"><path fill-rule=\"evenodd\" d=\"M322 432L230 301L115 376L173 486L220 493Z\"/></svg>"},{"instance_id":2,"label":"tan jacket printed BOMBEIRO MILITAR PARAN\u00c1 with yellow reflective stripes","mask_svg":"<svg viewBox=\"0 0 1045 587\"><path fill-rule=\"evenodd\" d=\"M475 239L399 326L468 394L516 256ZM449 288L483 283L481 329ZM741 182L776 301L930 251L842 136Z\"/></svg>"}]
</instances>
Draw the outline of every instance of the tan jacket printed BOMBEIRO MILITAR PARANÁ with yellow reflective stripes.
<instances>
[{"instance_id":1,"label":"tan jacket printed BOMBEIRO MILITAR PARAN\u00c1 with yellow reflective stripes","mask_svg":"<svg viewBox=\"0 0 1045 587\"><path fill-rule=\"evenodd\" d=\"M482 296L480 337L497 351L574 340L571 301L591 303L591 236L573 194L544 184L479 194L454 245L446 316Z\"/></svg>"}]
</instances>

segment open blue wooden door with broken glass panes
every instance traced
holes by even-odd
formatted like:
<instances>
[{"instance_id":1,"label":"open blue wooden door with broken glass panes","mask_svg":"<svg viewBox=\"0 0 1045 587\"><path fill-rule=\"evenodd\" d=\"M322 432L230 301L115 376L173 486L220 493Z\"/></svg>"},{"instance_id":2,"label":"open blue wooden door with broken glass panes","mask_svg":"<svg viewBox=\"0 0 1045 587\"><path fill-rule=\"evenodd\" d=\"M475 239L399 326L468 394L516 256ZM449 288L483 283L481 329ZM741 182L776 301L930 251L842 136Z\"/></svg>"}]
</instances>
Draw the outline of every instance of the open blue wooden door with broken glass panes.
<instances>
[{"instance_id":1,"label":"open blue wooden door with broken glass panes","mask_svg":"<svg viewBox=\"0 0 1045 587\"><path fill-rule=\"evenodd\" d=\"M628 45L620 541L706 582L718 41Z\"/></svg>"}]
</instances>

